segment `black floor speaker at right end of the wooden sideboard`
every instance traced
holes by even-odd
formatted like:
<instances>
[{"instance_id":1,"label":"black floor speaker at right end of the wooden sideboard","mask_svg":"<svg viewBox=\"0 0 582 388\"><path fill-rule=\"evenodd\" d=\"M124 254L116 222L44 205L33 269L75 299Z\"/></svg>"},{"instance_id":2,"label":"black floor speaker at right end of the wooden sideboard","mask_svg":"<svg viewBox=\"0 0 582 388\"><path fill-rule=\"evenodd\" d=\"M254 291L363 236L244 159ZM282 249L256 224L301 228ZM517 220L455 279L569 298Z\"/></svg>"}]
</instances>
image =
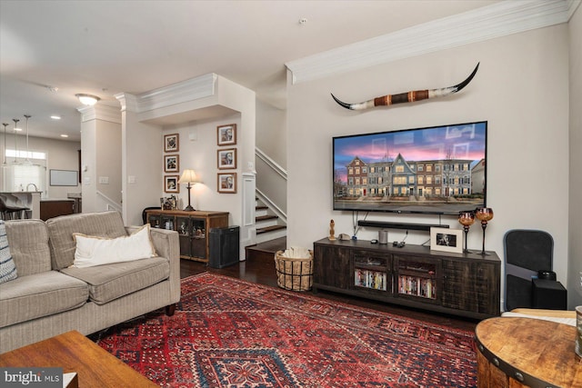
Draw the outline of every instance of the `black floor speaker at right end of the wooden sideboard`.
<instances>
[{"instance_id":1,"label":"black floor speaker at right end of the wooden sideboard","mask_svg":"<svg viewBox=\"0 0 582 388\"><path fill-rule=\"evenodd\" d=\"M210 267L224 268L238 263L239 233L238 226L210 229Z\"/></svg>"}]
</instances>

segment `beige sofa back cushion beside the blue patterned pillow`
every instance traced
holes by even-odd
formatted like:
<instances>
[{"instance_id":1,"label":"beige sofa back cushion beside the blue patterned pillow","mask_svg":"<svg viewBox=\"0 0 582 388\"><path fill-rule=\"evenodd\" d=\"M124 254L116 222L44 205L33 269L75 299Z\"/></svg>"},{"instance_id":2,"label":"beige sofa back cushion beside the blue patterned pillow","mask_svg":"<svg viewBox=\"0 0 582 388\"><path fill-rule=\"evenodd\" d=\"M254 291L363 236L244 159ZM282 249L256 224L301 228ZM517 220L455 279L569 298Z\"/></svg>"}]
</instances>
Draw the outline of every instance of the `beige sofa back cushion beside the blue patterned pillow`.
<instances>
[{"instance_id":1,"label":"beige sofa back cushion beside the blue patterned pillow","mask_svg":"<svg viewBox=\"0 0 582 388\"><path fill-rule=\"evenodd\" d=\"M51 250L44 221L13 220L6 221L5 226L18 276L51 270Z\"/></svg>"}]
</instances>

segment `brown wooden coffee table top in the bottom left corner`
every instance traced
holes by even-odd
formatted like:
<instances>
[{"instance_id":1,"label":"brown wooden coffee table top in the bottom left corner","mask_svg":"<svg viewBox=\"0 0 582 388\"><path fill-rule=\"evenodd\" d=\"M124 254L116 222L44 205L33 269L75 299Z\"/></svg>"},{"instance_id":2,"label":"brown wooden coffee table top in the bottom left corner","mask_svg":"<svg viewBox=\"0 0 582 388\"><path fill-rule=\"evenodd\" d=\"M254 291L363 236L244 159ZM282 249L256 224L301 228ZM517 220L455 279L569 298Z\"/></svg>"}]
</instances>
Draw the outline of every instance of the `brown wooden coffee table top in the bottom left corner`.
<instances>
[{"instance_id":1,"label":"brown wooden coffee table top in the bottom left corner","mask_svg":"<svg viewBox=\"0 0 582 388\"><path fill-rule=\"evenodd\" d=\"M79 388L157 386L75 331L0 354L0 366L63 368L77 373Z\"/></svg>"}]
</instances>

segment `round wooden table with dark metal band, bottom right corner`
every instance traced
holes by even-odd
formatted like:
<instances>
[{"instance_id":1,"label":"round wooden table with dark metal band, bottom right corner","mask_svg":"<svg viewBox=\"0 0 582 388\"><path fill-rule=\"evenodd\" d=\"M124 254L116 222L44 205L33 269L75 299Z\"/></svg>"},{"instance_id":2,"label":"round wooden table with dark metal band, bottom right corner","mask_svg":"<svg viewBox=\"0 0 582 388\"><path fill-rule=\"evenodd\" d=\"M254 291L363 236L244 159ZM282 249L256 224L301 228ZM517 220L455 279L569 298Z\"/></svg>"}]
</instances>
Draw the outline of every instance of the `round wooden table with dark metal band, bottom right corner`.
<instances>
[{"instance_id":1,"label":"round wooden table with dark metal band, bottom right corner","mask_svg":"<svg viewBox=\"0 0 582 388\"><path fill-rule=\"evenodd\" d=\"M533 318L477 324L477 386L582 387L576 327Z\"/></svg>"}]
</instances>

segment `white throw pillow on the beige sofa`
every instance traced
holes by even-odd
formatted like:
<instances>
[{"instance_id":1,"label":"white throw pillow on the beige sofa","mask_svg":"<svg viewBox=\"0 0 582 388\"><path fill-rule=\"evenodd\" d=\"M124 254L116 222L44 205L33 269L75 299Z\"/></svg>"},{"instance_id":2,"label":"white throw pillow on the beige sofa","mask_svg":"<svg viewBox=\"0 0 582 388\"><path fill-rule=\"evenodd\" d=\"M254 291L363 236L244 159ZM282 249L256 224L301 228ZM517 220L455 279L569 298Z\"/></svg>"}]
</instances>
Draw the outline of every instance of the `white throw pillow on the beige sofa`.
<instances>
[{"instance_id":1,"label":"white throw pillow on the beige sofa","mask_svg":"<svg viewBox=\"0 0 582 388\"><path fill-rule=\"evenodd\" d=\"M154 257L156 250L149 233L149 224L144 225L134 234L113 239L75 233L73 234L76 241L73 266L86 268Z\"/></svg>"}]
</instances>

